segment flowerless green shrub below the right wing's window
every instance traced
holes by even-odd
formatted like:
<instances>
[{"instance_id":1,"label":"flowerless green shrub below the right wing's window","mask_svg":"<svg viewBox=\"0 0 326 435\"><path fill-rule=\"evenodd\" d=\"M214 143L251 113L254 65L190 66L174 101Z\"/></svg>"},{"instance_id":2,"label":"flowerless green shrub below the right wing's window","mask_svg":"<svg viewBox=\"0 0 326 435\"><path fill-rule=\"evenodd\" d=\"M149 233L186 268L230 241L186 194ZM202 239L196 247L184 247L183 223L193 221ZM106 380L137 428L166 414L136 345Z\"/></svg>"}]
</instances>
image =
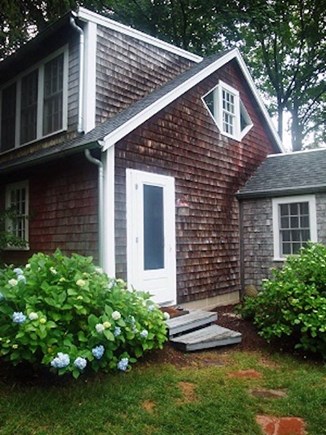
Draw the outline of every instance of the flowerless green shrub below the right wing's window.
<instances>
[{"instance_id":1,"label":"flowerless green shrub below the right wing's window","mask_svg":"<svg viewBox=\"0 0 326 435\"><path fill-rule=\"evenodd\" d=\"M295 340L296 348L326 358L326 246L310 243L264 280L256 298L244 302L260 335Z\"/></svg>"}]
</instances>

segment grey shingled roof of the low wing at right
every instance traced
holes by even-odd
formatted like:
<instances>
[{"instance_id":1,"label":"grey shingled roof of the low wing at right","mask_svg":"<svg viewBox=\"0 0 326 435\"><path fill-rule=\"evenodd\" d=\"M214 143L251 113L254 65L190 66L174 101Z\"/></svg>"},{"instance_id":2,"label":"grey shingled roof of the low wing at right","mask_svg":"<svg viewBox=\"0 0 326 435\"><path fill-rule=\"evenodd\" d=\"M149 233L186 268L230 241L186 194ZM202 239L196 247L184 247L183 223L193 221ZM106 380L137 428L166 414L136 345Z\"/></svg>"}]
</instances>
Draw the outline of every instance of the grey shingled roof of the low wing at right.
<instances>
[{"instance_id":1,"label":"grey shingled roof of the low wing at right","mask_svg":"<svg viewBox=\"0 0 326 435\"><path fill-rule=\"evenodd\" d=\"M263 198L326 191L326 148L268 156L237 196Z\"/></svg>"}]
</instances>

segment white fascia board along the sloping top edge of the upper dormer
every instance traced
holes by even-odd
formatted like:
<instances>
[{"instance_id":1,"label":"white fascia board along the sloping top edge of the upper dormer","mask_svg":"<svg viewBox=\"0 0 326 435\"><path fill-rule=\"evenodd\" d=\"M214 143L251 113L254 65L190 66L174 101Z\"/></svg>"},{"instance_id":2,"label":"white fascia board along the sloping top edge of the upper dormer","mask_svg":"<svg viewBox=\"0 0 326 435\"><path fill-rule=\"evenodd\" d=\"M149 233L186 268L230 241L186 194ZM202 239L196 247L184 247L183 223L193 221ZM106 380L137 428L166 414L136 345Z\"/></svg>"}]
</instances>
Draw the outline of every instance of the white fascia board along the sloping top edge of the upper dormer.
<instances>
[{"instance_id":1,"label":"white fascia board along the sloping top edge of the upper dormer","mask_svg":"<svg viewBox=\"0 0 326 435\"><path fill-rule=\"evenodd\" d=\"M89 11L83 7L79 7L77 11L77 16L79 19L84 21L91 21L93 23L99 24L108 29L115 30L132 38L138 39L139 41L146 42L147 44L154 45L155 47L162 48L163 50L169 51L170 53L177 54L178 56L184 57L185 59L192 60L193 62L201 62L203 58L197 56L194 53L183 50L182 48L176 47L175 45L169 44L168 42L161 41L160 39L154 38L153 36L146 35L146 33L140 32L139 30L133 29L132 27L126 26L124 24L118 23L117 21L111 20L110 18L103 17L95 12Z\"/></svg>"}]
</instances>

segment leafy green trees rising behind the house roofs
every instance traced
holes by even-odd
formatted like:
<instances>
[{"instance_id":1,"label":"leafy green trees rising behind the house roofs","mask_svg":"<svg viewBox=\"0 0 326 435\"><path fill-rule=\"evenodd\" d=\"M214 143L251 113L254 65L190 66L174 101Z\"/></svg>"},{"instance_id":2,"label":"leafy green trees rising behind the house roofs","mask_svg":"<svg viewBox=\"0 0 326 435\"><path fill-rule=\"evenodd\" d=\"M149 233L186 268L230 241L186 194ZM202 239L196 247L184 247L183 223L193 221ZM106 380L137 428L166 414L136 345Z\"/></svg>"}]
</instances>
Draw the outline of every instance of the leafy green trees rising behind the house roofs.
<instances>
[{"instance_id":1,"label":"leafy green trees rising behind the house roofs","mask_svg":"<svg viewBox=\"0 0 326 435\"><path fill-rule=\"evenodd\" d=\"M325 0L2 0L0 57L78 5L197 54L240 46L280 136L287 111L294 150L325 142Z\"/></svg>"}]
</instances>

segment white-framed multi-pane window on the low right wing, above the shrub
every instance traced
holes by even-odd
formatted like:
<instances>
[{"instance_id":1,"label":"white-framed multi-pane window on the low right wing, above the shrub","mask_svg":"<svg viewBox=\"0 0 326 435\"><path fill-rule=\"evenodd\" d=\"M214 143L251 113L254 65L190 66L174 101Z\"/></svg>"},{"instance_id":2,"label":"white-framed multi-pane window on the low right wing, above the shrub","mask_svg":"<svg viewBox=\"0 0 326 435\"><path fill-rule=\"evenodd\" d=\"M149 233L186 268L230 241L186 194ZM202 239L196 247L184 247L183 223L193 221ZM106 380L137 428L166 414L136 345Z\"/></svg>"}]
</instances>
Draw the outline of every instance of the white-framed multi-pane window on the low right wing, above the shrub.
<instances>
[{"instance_id":1,"label":"white-framed multi-pane window on the low right wing, above the shrub","mask_svg":"<svg viewBox=\"0 0 326 435\"><path fill-rule=\"evenodd\" d=\"M273 199L274 257L298 254L308 241L317 241L314 195Z\"/></svg>"}]
</instances>

